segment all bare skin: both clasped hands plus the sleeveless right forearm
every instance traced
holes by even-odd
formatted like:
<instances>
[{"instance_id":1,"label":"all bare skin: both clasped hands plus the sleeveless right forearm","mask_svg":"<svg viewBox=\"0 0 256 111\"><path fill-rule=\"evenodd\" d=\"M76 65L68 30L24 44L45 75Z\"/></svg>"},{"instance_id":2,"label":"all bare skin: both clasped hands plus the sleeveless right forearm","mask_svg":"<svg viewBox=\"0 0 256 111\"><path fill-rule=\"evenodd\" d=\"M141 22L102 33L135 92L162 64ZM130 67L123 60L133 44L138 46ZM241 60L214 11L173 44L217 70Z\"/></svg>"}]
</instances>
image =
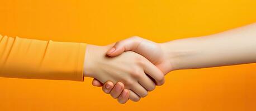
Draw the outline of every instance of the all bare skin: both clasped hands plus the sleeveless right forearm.
<instances>
[{"instance_id":1,"label":"all bare skin: both clasped hands plus the sleeveless right forearm","mask_svg":"<svg viewBox=\"0 0 256 111\"><path fill-rule=\"evenodd\" d=\"M88 44L83 74L119 103L138 102L155 85L164 84L164 75L172 70L255 63L255 29L254 23L166 43L131 37L108 46Z\"/></svg>"}]
</instances>

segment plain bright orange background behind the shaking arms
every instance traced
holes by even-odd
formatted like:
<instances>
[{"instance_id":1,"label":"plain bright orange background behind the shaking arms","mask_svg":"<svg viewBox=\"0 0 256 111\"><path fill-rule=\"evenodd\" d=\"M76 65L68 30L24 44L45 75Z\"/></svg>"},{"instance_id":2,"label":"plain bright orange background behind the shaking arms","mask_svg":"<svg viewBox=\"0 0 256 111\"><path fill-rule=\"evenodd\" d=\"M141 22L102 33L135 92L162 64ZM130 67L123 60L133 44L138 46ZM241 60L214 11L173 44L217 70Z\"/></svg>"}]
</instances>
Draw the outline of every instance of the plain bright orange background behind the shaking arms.
<instances>
[{"instance_id":1,"label":"plain bright orange background behind the shaking arms","mask_svg":"<svg viewBox=\"0 0 256 111\"><path fill-rule=\"evenodd\" d=\"M256 22L255 0L0 0L0 34L105 45L204 36ZM230 41L232 41L230 39ZM256 64L177 70L140 102L85 82L0 78L0 110L256 110Z\"/></svg>"}]
</instances>

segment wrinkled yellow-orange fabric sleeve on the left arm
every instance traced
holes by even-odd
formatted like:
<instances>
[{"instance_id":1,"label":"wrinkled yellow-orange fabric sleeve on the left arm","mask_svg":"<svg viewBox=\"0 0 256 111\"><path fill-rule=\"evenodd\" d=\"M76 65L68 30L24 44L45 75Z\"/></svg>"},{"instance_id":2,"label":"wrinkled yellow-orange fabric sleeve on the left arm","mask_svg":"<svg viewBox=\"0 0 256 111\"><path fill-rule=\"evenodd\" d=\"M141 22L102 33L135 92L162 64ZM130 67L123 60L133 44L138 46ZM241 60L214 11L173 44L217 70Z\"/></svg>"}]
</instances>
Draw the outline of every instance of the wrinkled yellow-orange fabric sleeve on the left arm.
<instances>
[{"instance_id":1,"label":"wrinkled yellow-orange fabric sleeve on the left arm","mask_svg":"<svg viewBox=\"0 0 256 111\"><path fill-rule=\"evenodd\" d=\"M0 77L83 80L86 44L0 35Z\"/></svg>"}]
</instances>

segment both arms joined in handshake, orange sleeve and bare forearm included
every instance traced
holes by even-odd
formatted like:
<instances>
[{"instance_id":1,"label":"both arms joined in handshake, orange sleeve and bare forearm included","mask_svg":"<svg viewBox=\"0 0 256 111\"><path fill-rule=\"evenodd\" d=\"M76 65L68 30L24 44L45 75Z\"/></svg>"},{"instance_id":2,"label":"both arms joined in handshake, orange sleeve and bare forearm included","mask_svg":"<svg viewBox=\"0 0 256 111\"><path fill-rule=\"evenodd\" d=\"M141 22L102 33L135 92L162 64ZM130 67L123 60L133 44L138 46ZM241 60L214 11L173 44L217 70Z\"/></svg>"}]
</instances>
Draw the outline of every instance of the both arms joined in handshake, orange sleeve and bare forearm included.
<instances>
[{"instance_id":1,"label":"both arms joined in handshake, orange sleeve and bare forearm included","mask_svg":"<svg viewBox=\"0 0 256 111\"><path fill-rule=\"evenodd\" d=\"M131 37L86 46L0 35L0 46L0 77L82 80L84 70L83 77L124 104L146 97L172 70L255 63L256 23L165 43Z\"/></svg>"}]
</instances>

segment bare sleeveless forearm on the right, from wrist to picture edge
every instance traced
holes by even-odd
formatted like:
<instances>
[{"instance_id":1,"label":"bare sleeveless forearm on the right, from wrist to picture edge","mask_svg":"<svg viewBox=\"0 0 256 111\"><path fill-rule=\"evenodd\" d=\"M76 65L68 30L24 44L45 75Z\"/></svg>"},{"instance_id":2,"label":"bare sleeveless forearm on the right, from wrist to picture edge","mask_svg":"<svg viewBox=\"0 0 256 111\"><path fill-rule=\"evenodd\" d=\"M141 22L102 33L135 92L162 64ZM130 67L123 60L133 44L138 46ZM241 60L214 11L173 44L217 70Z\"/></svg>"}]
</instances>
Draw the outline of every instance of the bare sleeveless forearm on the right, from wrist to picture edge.
<instances>
[{"instance_id":1,"label":"bare sleeveless forearm on the right, from wrist to picture edge","mask_svg":"<svg viewBox=\"0 0 256 111\"><path fill-rule=\"evenodd\" d=\"M256 24L162 43L172 69L207 68L256 62Z\"/></svg>"}]
</instances>

